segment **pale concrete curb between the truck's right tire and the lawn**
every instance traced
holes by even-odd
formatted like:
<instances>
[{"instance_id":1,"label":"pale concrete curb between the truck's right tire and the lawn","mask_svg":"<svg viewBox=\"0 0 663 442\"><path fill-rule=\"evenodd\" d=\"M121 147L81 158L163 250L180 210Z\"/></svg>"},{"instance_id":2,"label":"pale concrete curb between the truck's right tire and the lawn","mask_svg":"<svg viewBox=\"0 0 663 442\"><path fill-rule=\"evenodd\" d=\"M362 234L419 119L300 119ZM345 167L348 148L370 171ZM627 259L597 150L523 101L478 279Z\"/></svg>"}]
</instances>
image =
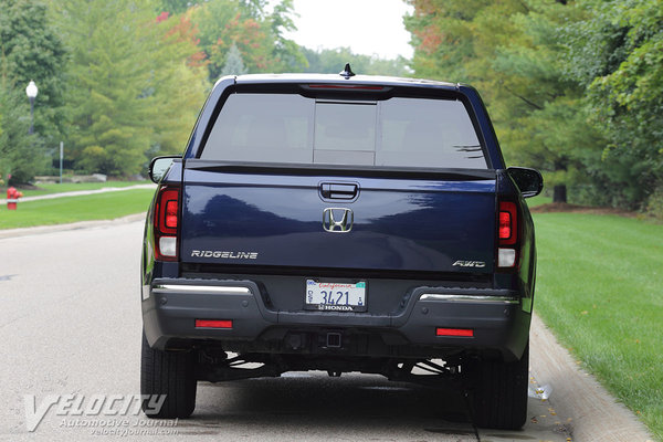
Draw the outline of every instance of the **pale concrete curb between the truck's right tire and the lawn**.
<instances>
[{"instance_id":1,"label":"pale concrete curb between the truck's right tire and the lawn","mask_svg":"<svg viewBox=\"0 0 663 442\"><path fill-rule=\"evenodd\" d=\"M551 387L550 404L568 421L577 442L653 442L646 427L589 373L555 338L537 315L532 316L530 371Z\"/></svg>"}]
</instances>

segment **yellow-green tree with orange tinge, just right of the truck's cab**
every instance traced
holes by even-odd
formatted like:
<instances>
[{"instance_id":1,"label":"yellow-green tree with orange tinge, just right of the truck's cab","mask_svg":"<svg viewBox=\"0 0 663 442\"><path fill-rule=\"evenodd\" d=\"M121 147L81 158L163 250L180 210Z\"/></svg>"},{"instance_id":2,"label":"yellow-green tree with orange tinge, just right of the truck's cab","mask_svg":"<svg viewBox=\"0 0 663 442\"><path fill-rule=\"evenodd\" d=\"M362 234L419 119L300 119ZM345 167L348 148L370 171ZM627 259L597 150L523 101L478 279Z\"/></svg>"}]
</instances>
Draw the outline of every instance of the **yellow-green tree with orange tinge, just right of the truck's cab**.
<instances>
[{"instance_id":1,"label":"yellow-green tree with orange tinge, just right of the truck's cab","mask_svg":"<svg viewBox=\"0 0 663 442\"><path fill-rule=\"evenodd\" d=\"M580 187L600 161L602 137L583 109L585 88L565 71L560 29L577 20L566 2L412 0L417 75L476 85L505 157L547 170L554 199ZM572 129L572 130L568 130Z\"/></svg>"}]
</instances>

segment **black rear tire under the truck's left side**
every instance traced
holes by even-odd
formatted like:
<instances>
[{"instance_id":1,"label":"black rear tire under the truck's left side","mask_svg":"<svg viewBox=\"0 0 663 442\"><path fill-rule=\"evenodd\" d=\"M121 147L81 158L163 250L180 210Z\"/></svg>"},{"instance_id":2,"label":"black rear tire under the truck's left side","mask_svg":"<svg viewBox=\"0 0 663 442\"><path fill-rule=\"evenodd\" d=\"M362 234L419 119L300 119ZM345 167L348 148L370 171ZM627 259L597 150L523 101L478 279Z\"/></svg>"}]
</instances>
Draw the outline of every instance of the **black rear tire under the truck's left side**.
<instances>
[{"instance_id":1,"label":"black rear tire under the truck's left side","mask_svg":"<svg viewBox=\"0 0 663 442\"><path fill-rule=\"evenodd\" d=\"M149 347L145 333L140 357L140 394L166 394L155 412L148 401L143 411L152 419L186 419L196 408L196 352L161 351Z\"/></svg>"}]
</instances>

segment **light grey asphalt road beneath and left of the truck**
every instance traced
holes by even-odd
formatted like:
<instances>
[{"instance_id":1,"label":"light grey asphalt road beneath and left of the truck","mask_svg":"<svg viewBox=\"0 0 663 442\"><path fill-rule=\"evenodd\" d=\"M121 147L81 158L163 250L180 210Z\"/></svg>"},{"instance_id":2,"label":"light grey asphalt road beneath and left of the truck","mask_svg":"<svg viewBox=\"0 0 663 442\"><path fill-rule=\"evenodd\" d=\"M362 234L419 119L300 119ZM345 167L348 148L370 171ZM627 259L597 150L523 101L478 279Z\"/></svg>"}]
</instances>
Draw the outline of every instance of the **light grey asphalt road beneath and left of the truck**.
<instances>
[{"instance_id":1,"label":"light grey asphalt road beneath and left of the truck","mask_svg":"<svg viewBox=\"0 0 663 442\"><path fill-rule=\"evenodd\" d=\"M322 372L200 383L192 419L164 427L140 413L95 415L99 397L117 394L107 411L118 412L113 406L129 409L130 394L139 391L141 229L141 222L118 221L0 239L0 440L496 442L570 435L572 419L562 421L548 401L529 400L523 431L476 430L459 391ZM61 399L28 431L53 394L81 402Z\"/></svg>"}]
</instances>

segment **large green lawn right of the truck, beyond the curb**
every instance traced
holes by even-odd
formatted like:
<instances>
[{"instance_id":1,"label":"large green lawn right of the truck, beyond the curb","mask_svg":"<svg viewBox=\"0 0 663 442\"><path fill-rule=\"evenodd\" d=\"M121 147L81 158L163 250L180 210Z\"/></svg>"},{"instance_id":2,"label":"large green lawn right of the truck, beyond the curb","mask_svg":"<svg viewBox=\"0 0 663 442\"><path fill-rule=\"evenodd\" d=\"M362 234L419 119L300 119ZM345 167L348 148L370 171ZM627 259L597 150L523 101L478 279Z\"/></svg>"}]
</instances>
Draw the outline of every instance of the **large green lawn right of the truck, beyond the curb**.
<instances>
[{"instance_id":1,"label":"large green lawn right of the truck, beyond the curb","mask_svg":"<svg viewBox=\"0 0 663 442\"><path fill-rule=\"evenodd\" d=\"M575 213L534 219L536 312L663 440L663 225Z\"/></svg>"}]
</instances>

